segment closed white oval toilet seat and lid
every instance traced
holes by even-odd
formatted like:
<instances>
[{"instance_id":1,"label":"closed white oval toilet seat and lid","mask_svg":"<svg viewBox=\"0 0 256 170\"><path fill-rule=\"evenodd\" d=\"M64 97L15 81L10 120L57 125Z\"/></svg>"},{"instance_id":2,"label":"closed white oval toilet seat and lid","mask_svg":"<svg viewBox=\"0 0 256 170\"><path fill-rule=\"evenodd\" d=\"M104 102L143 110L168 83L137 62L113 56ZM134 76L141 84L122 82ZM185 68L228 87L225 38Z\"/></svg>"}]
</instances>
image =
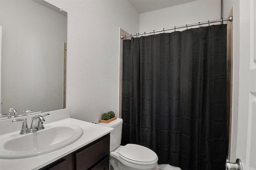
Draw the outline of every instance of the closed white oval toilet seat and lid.
<instances>
[{"instance_id":1,"label":"closed white oval toilet seat and lid","mask_svg":"<svg viewBox=\"0 0 256 170\"><path fill-rule=\"evenodd\" d=\"M156 153L145 146L126 144L119 150L119 157L132 164L149 165L158 161Z\"/></svg>"}]
</instances>

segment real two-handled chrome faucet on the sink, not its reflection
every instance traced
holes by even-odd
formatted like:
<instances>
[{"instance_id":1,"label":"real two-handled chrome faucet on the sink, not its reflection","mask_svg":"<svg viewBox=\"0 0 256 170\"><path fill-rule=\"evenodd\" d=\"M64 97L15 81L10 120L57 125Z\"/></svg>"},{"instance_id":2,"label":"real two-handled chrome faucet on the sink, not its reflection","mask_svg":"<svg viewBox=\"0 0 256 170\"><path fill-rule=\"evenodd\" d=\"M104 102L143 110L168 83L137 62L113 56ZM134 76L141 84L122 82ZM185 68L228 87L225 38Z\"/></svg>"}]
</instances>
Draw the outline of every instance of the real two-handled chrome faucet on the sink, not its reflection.
<instances>
[{"instance_id":1,"label":"real two-handled chrome faucet on the sink, not its reflection","mask_svg":"<svg viewBox=\"0 0 256 170\"><path fill-rule=\"evenodd\" d=\"M22 121L23 123L20 130L20 134L27 134L27 133L36 132L38 130L44 129L44 125L43 125L43 122L45 121L44 116L47 116L47 115L50 115L50 114L47 113L42 116L36 115L35 117L32 117L32 123L30 128L28 128L27 119L16 119L16 120L13 120L12 122L16 123L16 122Z\"/></svg>"}]
</instances>

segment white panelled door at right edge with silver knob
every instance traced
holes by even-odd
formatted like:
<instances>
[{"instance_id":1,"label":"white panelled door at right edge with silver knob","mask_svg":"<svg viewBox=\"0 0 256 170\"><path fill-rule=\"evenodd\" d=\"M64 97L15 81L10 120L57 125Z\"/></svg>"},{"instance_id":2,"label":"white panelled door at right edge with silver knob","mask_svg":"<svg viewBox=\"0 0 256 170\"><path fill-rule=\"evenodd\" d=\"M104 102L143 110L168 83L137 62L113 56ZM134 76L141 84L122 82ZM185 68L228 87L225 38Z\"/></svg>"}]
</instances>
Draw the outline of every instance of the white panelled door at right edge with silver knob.
<instances>
[{"instance_id":1,"label":"white panelled door at right edge with silver knob","mask_svg":"<svg viewBox=\"0 0 256 170\"><path fill-rule=\"evenodd\" d=\"M240 0L239 6L240 68L236 158L242 160L245 170L256 170L256 1Z\"/></svg>"}]
</instances>

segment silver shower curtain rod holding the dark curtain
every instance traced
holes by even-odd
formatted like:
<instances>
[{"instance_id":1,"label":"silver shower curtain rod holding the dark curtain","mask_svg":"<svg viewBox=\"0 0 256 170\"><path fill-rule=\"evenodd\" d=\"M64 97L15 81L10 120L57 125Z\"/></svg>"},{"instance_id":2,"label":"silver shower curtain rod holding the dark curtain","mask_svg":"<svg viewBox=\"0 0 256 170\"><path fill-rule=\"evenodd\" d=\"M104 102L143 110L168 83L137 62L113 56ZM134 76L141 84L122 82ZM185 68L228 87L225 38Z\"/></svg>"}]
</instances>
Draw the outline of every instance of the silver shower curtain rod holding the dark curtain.
<instances>
[{"instance_id":1,"label":"silver shower curtain rod holding the dark curtain","mask_svg":"<svg viewBox=\"0 0 256 170\"><path fill-rule=\"evenodd\" d=\"M150 32L144 32L144 33L138 33L138 34L131 34L130 36L121 36L121 39L123 38L126 38L126 37L132 37L132 36L140 36L142 34L151 34L151 33L156 33L156 32L164 32L164 31L168 31L168 30L176 30L176 29L179 29L179 28L188 28L188 27L191 27L191 26L200 26L200 25L203 25L203 24L209 24L210 23L214 23L214 22L222 22L223 21L232 21L233 20L233 16L230 16L228 18L225 18L225 19L220 19L220 20L213 20L213 21L206 21L206 22L199 22L199 23L196 23L196 24L190 24L190 25L186 25L186 26L178 26L178 27L173 27L173 28L167 28L167 29L162 29L162 30L154 30L154 31L150 31Z\"/></svg>"}]
</instances>

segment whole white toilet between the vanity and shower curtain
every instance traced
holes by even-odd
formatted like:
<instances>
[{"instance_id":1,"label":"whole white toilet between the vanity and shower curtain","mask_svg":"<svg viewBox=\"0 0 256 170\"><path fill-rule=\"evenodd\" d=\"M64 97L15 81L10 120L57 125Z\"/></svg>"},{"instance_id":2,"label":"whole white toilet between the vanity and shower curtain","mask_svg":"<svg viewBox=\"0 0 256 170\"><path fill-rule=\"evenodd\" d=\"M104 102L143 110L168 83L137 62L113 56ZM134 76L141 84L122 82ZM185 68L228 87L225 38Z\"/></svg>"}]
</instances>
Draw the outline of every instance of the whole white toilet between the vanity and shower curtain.
<instances>
[{"instance_id":1,"label":"whole white toilet between the vanity and shower curtain","mask_svg":"<svg viewBox=\"0 0 256 170\"><path fill-rule=\"evenodd\" d=\"M114 130L110 132L110 164L114 170L152 170L157 166L158 156L153 150L138 144L121 146L123 120L98 123Z\"/></svg>"}]
</instances>

